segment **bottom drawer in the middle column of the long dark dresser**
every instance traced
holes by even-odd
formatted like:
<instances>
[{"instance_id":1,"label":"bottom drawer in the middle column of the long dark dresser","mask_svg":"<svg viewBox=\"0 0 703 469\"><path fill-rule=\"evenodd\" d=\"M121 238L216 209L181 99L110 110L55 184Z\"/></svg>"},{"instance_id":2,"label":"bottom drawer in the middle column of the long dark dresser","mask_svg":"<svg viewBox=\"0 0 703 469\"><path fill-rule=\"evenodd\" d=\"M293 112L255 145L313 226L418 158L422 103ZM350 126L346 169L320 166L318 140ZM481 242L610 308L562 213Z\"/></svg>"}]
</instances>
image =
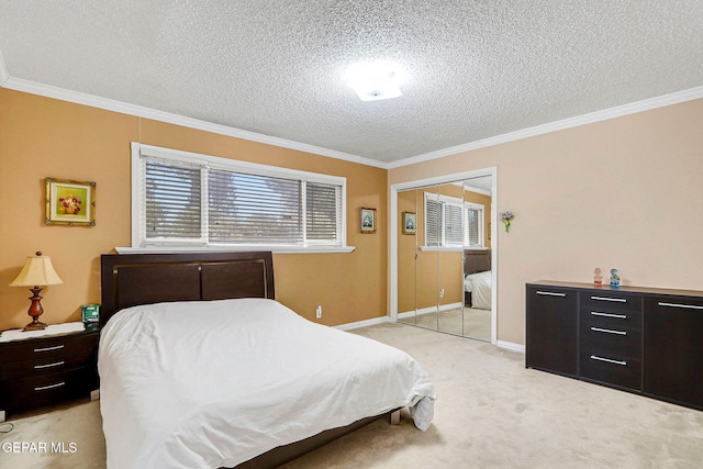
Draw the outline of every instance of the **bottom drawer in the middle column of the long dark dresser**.
<instances>
[{"instance_id":1,"label":"bottom drawer in the middle column of the long dark dresser","mask_svg":"<svg viewBox=\"0 0 703 469\"><path fill-rule=\"evenodd\" d=\"M641 360L582 350L581 378L641 391Z\"/></svg>"}]
</instances>

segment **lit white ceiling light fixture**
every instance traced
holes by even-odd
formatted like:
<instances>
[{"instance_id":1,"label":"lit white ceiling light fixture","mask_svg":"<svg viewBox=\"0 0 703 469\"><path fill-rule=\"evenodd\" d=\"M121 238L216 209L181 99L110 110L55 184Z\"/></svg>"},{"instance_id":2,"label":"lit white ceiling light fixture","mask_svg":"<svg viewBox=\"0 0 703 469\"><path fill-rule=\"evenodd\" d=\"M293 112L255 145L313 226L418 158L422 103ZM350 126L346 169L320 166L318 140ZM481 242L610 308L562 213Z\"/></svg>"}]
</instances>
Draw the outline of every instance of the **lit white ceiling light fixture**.
<instances>
[{"instance_id":1,"label":"lit white ceiling light fixture","mask_svg":"<svg viewBox=\"0 0 703 469\"><path fill-rule=\"evenodd\" d=\"M378 101L403 96L402 74L386 62L357 63L346 70L345 80L361 101Z\"/></svg>"}]
</instances>

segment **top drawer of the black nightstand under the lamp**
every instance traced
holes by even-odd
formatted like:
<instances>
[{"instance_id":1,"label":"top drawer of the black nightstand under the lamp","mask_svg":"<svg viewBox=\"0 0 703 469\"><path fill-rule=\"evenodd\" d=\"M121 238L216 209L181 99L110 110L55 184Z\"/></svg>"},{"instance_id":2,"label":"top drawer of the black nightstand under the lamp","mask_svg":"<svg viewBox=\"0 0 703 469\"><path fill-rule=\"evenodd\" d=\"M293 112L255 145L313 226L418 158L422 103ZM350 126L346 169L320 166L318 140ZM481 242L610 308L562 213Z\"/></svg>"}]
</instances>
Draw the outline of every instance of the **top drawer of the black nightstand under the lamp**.
<instances>
[{"instance_id":1,"label":"top drawer of the black nightstand under the lamp","mask_svg":"<svg viewBox=\"0 0 703 469\"><path fill-rule=\"evenodd\" d=\"M14 361L45 360L94 350L100 334L68 334L0 344L0 365Z\"/></svg>"}]
</instances>

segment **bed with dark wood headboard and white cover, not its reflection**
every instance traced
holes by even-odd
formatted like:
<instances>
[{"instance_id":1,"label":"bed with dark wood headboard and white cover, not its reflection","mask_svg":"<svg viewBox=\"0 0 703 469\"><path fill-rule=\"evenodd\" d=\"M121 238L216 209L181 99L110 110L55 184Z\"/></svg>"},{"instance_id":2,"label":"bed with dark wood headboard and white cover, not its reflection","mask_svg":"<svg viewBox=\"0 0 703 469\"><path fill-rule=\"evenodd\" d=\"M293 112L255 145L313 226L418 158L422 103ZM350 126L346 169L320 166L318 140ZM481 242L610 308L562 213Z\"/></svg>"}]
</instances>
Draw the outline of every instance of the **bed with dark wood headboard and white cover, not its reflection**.
<instances>
[{"instance_id":1,"label":"bed with dark wood headboard and white cover, not its reflection","mask_svg":"<svg viewBox=\"0 0 703 469\"><path fill-rule=\"evenodd\" d=\"M276 467L408 406L427 375L393 347L275 300L270 253L103 255L109 468Z\"/></svg>"}]
</instances>

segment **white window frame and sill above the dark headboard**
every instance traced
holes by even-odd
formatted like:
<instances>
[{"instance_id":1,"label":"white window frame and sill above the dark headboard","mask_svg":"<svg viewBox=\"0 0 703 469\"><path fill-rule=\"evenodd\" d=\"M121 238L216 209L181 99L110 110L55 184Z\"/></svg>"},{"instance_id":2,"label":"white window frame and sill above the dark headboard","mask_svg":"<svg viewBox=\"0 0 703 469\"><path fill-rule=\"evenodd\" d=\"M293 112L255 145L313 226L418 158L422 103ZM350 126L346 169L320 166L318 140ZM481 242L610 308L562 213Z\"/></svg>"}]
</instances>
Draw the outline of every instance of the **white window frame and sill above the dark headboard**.
<instances>
[{"instance_id":1,"label":"white window frame and sill above the dark headboard","mask_svg":"<svg viewBox=\"0 0 703 469\"><path fill-rule=\"evenodd\" d=\"M145 223L145 164L143 156L150 158L159 158L174 163L202 165L207 168L223 169L234 172L249 172L260 176L278 177L287 179L299 179L309 182L317 182L333 186L341 186L341 213L338 214L339 243L337 245L324 244L319 241L311 241L302 246L292 245L210 245L207 239L201 236L200 239L183 243L176 241L147 242L146 241L146 223ZM203 175L205 170L202 171ZM204 176L202 176L204 177ZM207 219L207 185L203 185L201 206L202 216ZM275 254L300 254L300 253L350 253L354 246L347 245L347 201L346 201L346 178L339 176L321 175L316 172L302 171L297 169L288 169L276 166L260 165L256 163L241 161L216 156L202 155L197 153L183 152L172 148L164 148L152 145L145 145L132 142L132 246L118 247L120 254L124 253L150 253L150 252L190 252L190 250L271 250ZM304 192L302 194L303 201ZM304 210L305 203L303 203ZM303 227L304 230L304 227Z\"/></svg>"}]
</instances>

